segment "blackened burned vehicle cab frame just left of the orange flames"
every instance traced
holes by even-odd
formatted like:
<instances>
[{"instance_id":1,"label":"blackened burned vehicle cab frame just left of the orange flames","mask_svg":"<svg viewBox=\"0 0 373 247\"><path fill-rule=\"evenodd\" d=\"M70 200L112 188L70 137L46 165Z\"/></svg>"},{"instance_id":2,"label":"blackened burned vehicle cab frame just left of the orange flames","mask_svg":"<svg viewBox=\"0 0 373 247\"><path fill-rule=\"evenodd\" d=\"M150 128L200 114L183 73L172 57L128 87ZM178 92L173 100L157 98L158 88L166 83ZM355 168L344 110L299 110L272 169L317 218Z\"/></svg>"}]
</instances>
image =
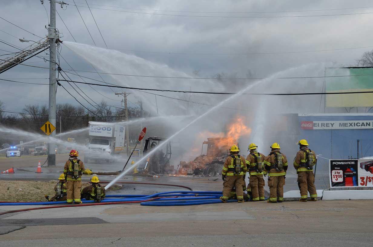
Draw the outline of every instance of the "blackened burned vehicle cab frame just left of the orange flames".
<instances>
[{"instance_id":1,"label":"blackened burned vehicle cab frame just left of the orange flames","mask_svg":"<svg viewBox=\"0 0 373 247\"><path fill-rule=\"evenodd\" d=\"M159 146L164 140L166 140L166 138L148 137L145 140L144 155L152 151L153 148ZM138 171L149 174L163 174L173 171L173 167L170 166L171 154L171 143L168 142L163 148L151 154L146 162L138 167Z\"/></svg>"}]
</instances>

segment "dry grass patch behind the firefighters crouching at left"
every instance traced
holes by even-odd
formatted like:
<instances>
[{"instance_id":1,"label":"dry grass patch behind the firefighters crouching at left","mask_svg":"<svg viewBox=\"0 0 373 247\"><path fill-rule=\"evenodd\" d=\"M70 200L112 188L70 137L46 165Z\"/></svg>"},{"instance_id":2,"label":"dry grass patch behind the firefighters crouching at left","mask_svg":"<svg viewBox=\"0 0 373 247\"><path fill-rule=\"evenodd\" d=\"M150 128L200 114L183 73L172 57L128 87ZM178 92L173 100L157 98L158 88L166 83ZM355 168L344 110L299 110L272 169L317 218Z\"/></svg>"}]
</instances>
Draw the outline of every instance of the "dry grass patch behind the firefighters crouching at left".
<instances>
[{"instance_id":1,"label":"dry grass patch behind the firefighters crouching at left","mask_svg":"<svg viewBox=\"0 0 373 247\"><path fill-rule=\"evenodd\" d=\"M0 201L47 201L44 195L54 195L55 180L44 181L0 181ZM82 187L90 185L82 182ZM114 185L108 191L118 190Z\"/></svg>"}]
</instances>

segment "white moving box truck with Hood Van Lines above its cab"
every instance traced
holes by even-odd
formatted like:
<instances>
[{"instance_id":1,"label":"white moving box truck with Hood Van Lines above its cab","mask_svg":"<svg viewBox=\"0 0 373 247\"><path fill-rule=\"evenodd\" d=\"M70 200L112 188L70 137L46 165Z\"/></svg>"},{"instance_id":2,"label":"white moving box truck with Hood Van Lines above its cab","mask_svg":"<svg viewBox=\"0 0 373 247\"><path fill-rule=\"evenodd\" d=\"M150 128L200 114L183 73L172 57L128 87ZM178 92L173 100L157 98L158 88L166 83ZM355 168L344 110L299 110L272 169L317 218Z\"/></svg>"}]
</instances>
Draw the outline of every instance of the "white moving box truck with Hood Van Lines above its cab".
<instances>
[{"instance_id":1,"label":"white moving box truck with Hood Van Lines above its cab","mask_svg":"<svg viewBox=\"0 0 373 247\"><path fill-rule=\"evenodd\" d=\"M90 142L84 154L84 162L89 160L112 161L112 155L125 150L125 126L116 123L89 122Z\"/></svg>"}]
</instances>

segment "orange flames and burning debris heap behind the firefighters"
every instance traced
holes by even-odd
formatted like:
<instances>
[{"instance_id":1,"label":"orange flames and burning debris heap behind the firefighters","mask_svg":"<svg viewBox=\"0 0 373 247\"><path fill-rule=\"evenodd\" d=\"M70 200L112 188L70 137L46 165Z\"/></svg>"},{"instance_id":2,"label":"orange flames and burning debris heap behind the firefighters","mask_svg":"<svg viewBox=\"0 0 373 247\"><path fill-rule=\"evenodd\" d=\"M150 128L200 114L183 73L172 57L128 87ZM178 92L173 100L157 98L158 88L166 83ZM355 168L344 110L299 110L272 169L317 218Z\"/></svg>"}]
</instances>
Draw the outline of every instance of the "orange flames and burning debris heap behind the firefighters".
<instances>
[{"instance_id":1,"label":"orange flames and burning debris heap behind the firefighters","mask_svg":"<svg viewBox=\"0 0 373 247\"><path fill-rule=\"evenodd\" d=\"M196 157L193 161L181 161L177 174L179 175L203 175L214 176L218 175L223 168L225 158L229 156L229 148L233 144L237 144L237 140L245 135L250 135L251 129L243 124L241 118L237 118L236 122L229 125L226 134L224 133L200 133L201 136L213 136L207 138L207 141L202 143L207 144L206 155L202 154ZM203 151L202 151L203 152Z\"/></svg>"}]
</instances>

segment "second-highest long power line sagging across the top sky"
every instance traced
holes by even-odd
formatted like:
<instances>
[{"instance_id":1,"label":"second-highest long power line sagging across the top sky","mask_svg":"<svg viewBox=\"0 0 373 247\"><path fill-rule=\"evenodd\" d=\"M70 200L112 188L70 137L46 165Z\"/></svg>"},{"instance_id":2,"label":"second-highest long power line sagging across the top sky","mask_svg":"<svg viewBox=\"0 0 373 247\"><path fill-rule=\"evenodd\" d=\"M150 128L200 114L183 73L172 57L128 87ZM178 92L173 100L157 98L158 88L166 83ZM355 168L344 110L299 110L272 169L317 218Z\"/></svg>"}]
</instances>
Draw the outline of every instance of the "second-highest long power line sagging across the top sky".
<instances>
[{"instance_id":1,"label":"second-highest long power line sagging across the top sky","mask_svg":"<svg viewBox=\"0 0 373 247\"><path fill-rule=\"evenodd\" d=\"M75 6L79 6L79 5L75 5ZM86 6L79 6L79 7L86 8ZM102 8L91 7L91 9L102 9ZM127 11L127 10L116 10L116 9L102 9L102 10L110 10L110 11L115 11L115 12L126 12L126 13L135 13L135 14L145 14L145 15L184 16L184 17L210 17L210 18L293 18L293 17L322 17L322 16L364 15L364 14L372 14L373 13L373 12L366 12L366 13L348 13L348 14L330 14L330 15L294 15L294 16L209 16L209 15L172 15L172 14L160 14L160 13L145 13L145 12L134 12L134 11Z\"/></svg>"}]
</instances>

